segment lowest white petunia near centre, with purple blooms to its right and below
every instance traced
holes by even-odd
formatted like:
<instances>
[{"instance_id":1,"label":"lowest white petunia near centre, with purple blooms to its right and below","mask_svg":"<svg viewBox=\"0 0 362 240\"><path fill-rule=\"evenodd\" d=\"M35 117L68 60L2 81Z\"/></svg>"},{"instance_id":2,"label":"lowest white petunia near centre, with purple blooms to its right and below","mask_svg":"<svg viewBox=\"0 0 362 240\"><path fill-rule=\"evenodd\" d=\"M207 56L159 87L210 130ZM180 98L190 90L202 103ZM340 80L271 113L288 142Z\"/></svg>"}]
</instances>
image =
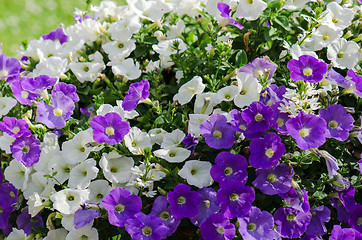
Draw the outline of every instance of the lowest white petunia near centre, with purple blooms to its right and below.
<instances>
[{"instance_id":1,"label":"lowest white petunia near centre, with purple blooms to its right and below","mask_svg":"<svg viewBox=\"0 0 362 240\"><path fill-rule=\"evenodd\" d=\"M208 187L213 183L210 175L211 167L210 162L190 160L185 163L178 172L178 175L186 179L189 185L194 185L198 188Z\"/></svg>"}]
</instances>

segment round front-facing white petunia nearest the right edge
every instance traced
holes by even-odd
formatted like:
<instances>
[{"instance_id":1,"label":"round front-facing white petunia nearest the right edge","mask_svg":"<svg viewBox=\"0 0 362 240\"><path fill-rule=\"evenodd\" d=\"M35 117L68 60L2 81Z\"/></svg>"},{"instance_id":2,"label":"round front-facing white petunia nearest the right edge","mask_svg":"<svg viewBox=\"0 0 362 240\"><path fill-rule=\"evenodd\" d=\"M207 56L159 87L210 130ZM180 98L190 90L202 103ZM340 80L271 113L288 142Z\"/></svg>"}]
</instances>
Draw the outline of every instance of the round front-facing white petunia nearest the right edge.
<instances>
[{"instance_id":1,"label":"round front-facing white petunia nearest the right edge","mask_svg":"<svg viewBox=\"0 0 362 240\"><path fill-rule=\"evenodd\" d=\"M338 68L353 68L359 60L359 46L356 42L338 39L327 48L327 58Z\"/></svg>"}]
</instances>

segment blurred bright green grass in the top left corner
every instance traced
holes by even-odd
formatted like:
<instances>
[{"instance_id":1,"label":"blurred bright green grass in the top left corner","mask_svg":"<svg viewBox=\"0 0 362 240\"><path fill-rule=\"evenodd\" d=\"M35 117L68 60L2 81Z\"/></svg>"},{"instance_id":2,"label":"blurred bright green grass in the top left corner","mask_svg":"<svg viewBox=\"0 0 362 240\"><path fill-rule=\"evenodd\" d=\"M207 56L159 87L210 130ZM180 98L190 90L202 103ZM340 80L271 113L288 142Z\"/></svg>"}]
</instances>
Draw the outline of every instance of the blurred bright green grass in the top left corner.
<instances>
[{"instance_id":1,"label":"blurred bright green grass in the top left corner","mask_svg":"<svg viewBox=\"0 0 362 240\"><path fill-rule=\"evenodd\" d=\"M99 5L101 0L93 0ZM0 43L3 53L16 56L23 40L38 39L61 24L74 23L75 8L85 10L85 0L0 0Z\"/></svg>"}]
</instances>

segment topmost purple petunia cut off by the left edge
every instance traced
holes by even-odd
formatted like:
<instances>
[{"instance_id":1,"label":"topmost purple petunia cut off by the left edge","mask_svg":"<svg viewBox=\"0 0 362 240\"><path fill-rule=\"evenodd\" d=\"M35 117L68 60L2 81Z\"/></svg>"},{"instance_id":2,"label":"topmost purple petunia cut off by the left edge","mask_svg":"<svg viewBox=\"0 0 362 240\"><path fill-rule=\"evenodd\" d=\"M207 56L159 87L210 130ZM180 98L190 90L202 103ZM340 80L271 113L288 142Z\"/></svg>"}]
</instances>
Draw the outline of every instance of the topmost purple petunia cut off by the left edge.
<instances>
[{"instance_id":1,"label":"topmost purple petunia cut off by the left edge","mask_svg":"<svg viewBox=\"0 0 362 240\"><path fill-rule=\"evenodd\" d=\"M16 58L8 58L5 54L0 54L0 80L7 78L7 82L12 82L19 77L21 65Z\"/></svg>"}]
</instances>

